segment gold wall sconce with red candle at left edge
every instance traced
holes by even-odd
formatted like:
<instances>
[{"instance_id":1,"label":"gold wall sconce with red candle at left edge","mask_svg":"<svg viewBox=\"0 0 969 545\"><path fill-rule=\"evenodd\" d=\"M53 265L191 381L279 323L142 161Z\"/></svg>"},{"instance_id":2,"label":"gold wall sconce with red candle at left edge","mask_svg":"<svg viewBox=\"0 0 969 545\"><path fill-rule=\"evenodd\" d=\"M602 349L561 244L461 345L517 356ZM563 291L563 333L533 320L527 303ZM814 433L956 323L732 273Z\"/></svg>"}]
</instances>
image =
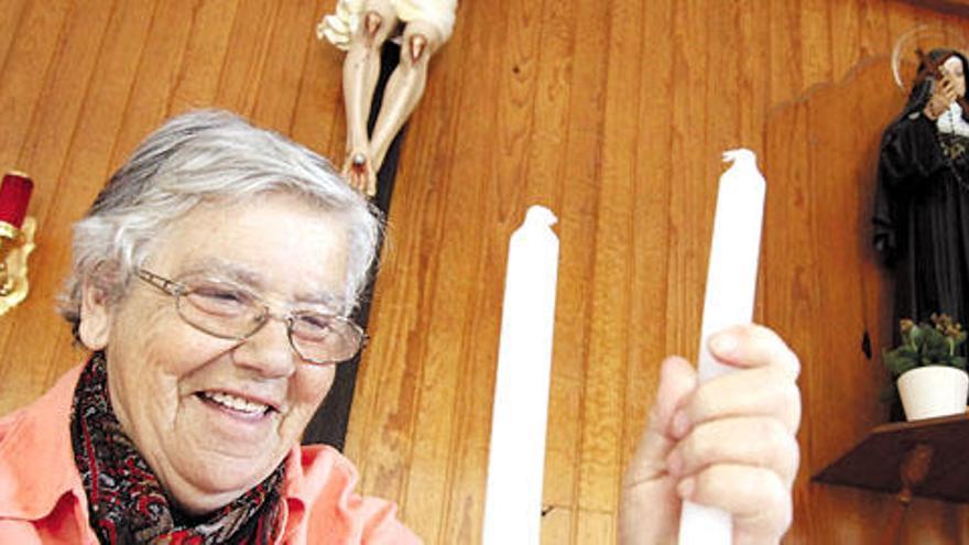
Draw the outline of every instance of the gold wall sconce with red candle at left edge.
<instances>
[{"instance_id":1,"label":"gold wall sconce with red candle at left edge","mask_svg":"<svg viewBox=\"0 0 969 545\"><path fill-rule=\"evenodd\" d=\"M34 249L36 220L26 217L33 182L10 172L0 185L0 315L20 304L30 288L28 255Z\"/></svg>"}]
</instances>

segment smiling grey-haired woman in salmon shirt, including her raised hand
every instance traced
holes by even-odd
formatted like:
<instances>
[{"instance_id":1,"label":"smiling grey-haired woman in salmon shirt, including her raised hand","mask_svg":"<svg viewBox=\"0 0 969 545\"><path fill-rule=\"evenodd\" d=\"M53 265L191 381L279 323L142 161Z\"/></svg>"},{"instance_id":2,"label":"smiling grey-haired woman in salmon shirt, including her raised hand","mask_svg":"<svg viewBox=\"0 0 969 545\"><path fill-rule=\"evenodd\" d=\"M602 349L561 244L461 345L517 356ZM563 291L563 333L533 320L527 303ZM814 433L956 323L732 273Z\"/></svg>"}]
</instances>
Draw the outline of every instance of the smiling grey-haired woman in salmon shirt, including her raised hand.
<instances>
[{"instance_id":1,"label":"smiling grey-haired woman in salmon shirt, including her raised hand","mask_svg":"<svg viewBox=\"0 0 969 545\"><path fill-rule=\"evenodd\" d=\"M0 543L418 542L347 459L300 446L360 349L347 316L378 230L325 160L235 116L149 137L76 226L64 315L91 356L0 421ZM752 326L712 349L742 369L697 386L664 363L629 543L668 543L682 498L732 513L743 543L790 523L796 358Z\"/></svg>"}]
</instances>

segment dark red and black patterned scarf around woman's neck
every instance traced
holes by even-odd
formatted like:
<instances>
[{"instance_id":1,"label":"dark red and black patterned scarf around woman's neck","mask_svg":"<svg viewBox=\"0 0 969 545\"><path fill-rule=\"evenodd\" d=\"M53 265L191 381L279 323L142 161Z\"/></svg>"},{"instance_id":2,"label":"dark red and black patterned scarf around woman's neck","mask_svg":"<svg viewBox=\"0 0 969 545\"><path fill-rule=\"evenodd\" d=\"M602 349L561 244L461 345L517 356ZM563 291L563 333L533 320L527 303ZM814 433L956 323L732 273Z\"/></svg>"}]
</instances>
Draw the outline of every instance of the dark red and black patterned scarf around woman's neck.
<instances>
[{"instance_id":1,"label":"dark red and black patterned scarf around woman's neck","mask_svg":"<svg viewBox=\"0 0 969 545\"><path fill-rule=\"evenodd\" d=\"M70 437L102 544L272 543L283 465L225 508L195 519L181 513L111 410L102 352L91 356L74 392Z\"/></svg>"}]
</instances>

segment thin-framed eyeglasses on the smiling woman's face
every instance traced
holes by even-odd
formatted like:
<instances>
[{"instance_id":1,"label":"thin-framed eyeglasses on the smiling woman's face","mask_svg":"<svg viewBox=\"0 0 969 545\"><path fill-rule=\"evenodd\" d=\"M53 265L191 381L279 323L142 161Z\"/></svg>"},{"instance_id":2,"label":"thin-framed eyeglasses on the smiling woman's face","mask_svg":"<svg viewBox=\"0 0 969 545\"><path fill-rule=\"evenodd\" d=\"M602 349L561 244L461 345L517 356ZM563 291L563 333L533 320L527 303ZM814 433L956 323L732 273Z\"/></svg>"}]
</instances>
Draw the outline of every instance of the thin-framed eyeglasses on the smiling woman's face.
<instances>
[{"instance_id":1,"label":"thin-framed eyeglasses on the smiling woman's face","mask_svg":"<svg viewBox=\"0 0 969 545\"><path fill-rule=\"evenodd\" d=\"M257 295L230 282L205 276L176 282L144 269L135 275L175 297L175 309L186 324L220 339L246 340L277 318L286 324L293 350L320 366L352 358L367 340L360 326L342 316L313 310L273 314Z\"/></svg>"}]
</instances>

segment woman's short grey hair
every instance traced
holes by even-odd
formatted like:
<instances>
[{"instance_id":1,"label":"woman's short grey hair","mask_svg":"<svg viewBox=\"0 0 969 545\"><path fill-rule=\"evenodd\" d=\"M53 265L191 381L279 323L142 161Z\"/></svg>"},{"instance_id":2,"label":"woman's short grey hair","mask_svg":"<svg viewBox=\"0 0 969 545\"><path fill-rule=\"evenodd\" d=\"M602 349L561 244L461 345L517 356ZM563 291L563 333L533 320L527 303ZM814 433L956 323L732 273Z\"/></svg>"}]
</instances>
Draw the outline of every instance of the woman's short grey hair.
<instances>
[{"instance_id":1,"label":"woman's short grey hair","mask_svg":"<svg viewBox=\"0 0 969 545\"><path fill-rule=\"evenodd\" d=\"M61 314L75 337L85 279L97 282L115 303L144 263L149 242L174 221L202 203L268 193L296 194L345 218L349 313L375 257L380 212L313 151L232 113L199 110L168 120L148 137L74 225L74 261Z\"/></svg>"}]
</instances>

